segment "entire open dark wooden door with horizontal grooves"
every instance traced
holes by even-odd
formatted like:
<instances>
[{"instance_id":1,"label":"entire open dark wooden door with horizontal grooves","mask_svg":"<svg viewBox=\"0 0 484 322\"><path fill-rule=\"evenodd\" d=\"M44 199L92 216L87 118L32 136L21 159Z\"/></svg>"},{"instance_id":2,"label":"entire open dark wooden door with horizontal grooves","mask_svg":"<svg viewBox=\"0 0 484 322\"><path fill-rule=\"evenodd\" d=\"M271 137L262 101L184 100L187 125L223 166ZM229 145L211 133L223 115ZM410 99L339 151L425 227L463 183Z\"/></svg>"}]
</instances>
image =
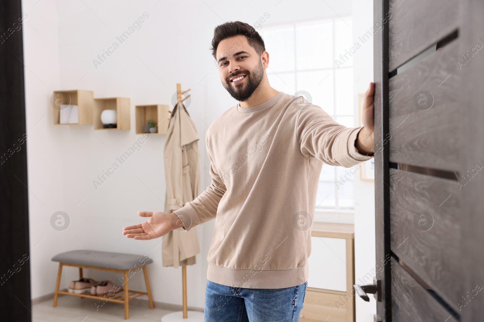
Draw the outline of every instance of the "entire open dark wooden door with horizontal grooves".
<instances>
[{"instance_id":1,"label":"entire open dark wooden door with horizontal grooves","mask_svg":"<svg viewBox=\"0 0 484 322\"><path fill-rule=\"evenodd\" d=\"M484 1L374 13L375 321L484 321Z\"/></svg>"}]
</instances>

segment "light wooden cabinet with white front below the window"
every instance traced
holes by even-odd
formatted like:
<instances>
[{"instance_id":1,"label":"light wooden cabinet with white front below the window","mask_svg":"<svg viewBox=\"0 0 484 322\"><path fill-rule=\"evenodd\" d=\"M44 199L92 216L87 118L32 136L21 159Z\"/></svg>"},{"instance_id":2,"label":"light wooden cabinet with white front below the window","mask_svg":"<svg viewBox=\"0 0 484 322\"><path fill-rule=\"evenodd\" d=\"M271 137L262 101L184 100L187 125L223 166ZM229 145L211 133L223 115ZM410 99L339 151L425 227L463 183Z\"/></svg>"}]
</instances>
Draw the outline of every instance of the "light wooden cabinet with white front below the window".
<instances>
[{"instance_id":1,"label":"light wooden cabinet with white front below the window","mask_svg":"<svg viewBox=\"0 0 484 322\"><path fill-rule=\"evenodd\" d=\"M300 322L354 322L354 225L313 223Z\"/></svg>"}]
</instances>

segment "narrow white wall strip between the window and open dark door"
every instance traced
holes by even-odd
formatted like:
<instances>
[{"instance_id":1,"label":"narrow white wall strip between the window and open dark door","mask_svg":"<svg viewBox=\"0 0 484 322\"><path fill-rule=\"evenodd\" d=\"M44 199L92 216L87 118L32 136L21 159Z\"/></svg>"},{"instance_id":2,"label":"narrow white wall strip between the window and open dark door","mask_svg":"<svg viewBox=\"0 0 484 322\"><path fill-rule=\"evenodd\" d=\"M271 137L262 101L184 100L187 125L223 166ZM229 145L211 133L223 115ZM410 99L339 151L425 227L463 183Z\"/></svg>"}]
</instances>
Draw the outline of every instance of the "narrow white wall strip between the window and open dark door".
<instances>
[{"instance_id":1,"label":"narrow white wall strip between the window and open dark door","mask_svg":"<svg viewBox=\"0 0 484 322\"><path fill-rule=\"evenodd\" d=\"M358 115L358 93L364 93L373 82L373 32L369 40L359 38L373 26L373 1L353 0L353 43L361 47L353 55L353 89L355 114ZM379 32L379 31L378 31ZM377 33L378 35L378 33ZM356 46L355 46L356 47ZM354 126L358 126L355 118ZM355 180L355 282L372 283L375 269L375 186L374 182ZM369 275L368 275L369 274ZM376 302L370 296L365 302L356 295L356 322L373 321Z\"/></svg>"}]
</instances>

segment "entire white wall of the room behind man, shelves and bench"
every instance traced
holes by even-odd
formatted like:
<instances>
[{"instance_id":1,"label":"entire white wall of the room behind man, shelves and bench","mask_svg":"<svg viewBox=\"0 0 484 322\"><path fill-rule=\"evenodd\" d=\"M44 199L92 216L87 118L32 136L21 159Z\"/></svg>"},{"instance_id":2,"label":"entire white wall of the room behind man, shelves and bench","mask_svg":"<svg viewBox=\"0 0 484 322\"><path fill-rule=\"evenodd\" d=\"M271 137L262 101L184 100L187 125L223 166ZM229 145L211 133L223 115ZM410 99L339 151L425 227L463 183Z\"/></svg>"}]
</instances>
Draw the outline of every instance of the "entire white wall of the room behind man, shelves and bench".
<instances>
[{"instance_id":1,"label":"entire white wall of the room behind man, shelves and bench","mask_svg":"<svg viewBox=\"0 0 484 322\"><path fill-rule=\"evenodd\" d=\"M353 16L354 37L372 25L372 3L368 0L353 3L349 0L262 3L250 0L230 6L231 3L220 0L22 1L23 11L29 14L23 33L24 62L28 67L25 80L32 298L54 291L58 263L50 260L53 255L73 249L91 249L148 253L154 260L148 267L154 300L180 305L181 269L162 266L161 245L157 246L161 240L138 241L122 235L124 226L145 220L136 215L138 210L164 209L165 136L151 136L141 150L97 190L92 183L140 138L135 134L134 106L161 103L171 108L176 83L181 83L183 90L191 88L189 113L200 137L200 189L203 191L210 183L205 133L216 117L237 104L220 84L208 49L214 27L235 20L254 25L265 12L271 16L262 28L334 16L335 12L351 14L351 11L358 13ZM120 44L116 37L145 12L149 17L141 24L141 29ZM93 59L113 42L118 42L120 47L96 69ZM373 44L368 42L354 56L355 97L373 80L372 53ZM131 98L131 130L54 126L49 98L53 90L68 89L93 90L95 98ZM357 103L355 106L357 115ZM373 184L355 180L355 190L358 280L375 262L374 234L371 233L374 228ZM65 211L71 219L69 228L62 232L50 226L51 215L59 210ZM187 267L189 306L204 306L206 258L213 225L211 221L197 227L201 253L197 255L197 264ZM121 276L100 271L86 271L84 275L113 281ZM64 268L61 287L67 287L76 278L75 268ZM140 274L130 279L130 287L144 290ZM366 304L359 298L356 303L357 321L368 321L374 303Z\"/></svg>"}]
</instances>

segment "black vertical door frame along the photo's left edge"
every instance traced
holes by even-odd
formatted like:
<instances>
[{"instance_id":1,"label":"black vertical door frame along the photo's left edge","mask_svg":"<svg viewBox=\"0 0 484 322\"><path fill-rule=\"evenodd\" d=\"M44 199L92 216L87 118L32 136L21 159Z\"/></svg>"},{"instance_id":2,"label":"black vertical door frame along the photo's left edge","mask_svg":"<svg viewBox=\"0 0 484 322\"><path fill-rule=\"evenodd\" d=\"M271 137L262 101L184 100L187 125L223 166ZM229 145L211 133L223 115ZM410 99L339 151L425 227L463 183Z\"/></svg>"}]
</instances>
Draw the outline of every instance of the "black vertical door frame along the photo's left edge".
<instances>
[{"instance_id":1,"label":"black vertical door frame along the photo's left edge","mask_svg":"<svg viewBox=\"0 0 484 322\"><path fill-rule=\"evenodd\" d=\"M12 31L18 27L19 18L20 1L0 1L0 320L30 322L22 29Z\"/></svg>"}]
</instances>

